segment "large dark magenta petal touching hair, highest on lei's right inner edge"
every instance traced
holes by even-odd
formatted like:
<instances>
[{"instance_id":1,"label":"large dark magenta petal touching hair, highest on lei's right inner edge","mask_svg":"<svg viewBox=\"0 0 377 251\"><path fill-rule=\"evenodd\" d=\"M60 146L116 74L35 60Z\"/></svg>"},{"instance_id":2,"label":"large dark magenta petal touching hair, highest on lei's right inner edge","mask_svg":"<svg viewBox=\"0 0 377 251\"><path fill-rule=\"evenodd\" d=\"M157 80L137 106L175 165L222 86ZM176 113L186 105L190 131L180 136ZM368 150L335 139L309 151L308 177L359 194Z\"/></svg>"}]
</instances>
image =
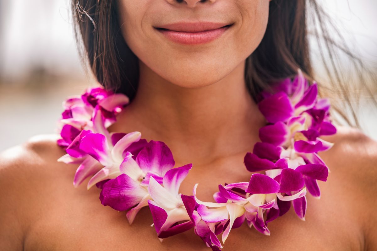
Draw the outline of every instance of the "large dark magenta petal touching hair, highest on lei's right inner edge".
<instances>
[{"instance_id":1,"label":"large dark magenta petal touching hair, highest on lei's right inner edge","mask_svg":"<svg viewBox=\"0 0 377 251\"><path fill-rule=\"evenodd\" d=\"M258 103L259 110L270 123L287 121L293 116L290 99L284 92L276 93Z\"/></svg>"}]
</instances>

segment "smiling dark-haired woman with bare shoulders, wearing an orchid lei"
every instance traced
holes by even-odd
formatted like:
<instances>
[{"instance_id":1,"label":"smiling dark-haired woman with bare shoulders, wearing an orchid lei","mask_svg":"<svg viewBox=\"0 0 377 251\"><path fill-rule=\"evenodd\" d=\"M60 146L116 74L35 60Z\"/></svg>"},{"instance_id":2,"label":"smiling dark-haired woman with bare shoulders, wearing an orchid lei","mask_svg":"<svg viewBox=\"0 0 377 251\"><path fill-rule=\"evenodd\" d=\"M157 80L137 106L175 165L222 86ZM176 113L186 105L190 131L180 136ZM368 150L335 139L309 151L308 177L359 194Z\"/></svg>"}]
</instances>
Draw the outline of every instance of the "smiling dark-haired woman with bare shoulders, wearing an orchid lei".
<instances>
[{"instance_id":1,"label":"smiling dark-haired woman with bare shoulders, wearing an orchid lei","mask_svg":"<svg viewBox=\"0 0 377 251\"><path fill-rule=\"evenodd\" d=\"M93 73L131 100L107 130L139 131L147 141L165 142L175 167L192 163L179 193L192 195L198 183L201 201L213 201L219 184L250 180L244 157L261 141L266 118L257 99L271 89L268 83L293 78L297 68L308 79L313 76L305 1L77 0L73 6ZM357 129L336 129L321 136L334 143L319 152L331 173L319 183L320 200L306 196L306 221L291 209L268 225L270 236L240 225L231 230L224 250L377 249L377 143ZM154 202L130 225L126 211L100 204L100 189L86 189L94 173L72 186L78 164L57 161L66 153L59 138L33 137L2 153L2 250L209 249L192 229L160 243L150 227L156 225L149 209ZM97 186L103 186L102 204L110 205L106 183ZM224 245L215 239L207 244L213 250Z\"/></svg>"}]
</instances>

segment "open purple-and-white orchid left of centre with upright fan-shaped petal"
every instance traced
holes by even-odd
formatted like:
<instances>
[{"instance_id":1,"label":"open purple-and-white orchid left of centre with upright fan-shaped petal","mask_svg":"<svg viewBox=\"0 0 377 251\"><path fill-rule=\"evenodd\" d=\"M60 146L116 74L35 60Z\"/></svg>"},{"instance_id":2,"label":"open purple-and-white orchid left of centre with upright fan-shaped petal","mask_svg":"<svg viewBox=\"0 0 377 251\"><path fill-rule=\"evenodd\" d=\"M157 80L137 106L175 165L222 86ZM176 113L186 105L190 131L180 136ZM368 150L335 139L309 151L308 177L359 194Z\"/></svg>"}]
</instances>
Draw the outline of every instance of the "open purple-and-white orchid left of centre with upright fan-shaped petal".
<instances>
[{"instance_id":1,"label":"open purple-and-white orchid left of centre with upright fan-shaped petal","mask_svg":"<svg viewBox=\"0 0 377 251\"><path fill-rule=\"evenodd\" d=\"M152 178L153 181L159 184L163 184L165 179L166 186L164 185L164 187L166 189L168 186L173 185L174 189L179 188L182 182L180 179L187 175L184 169L188 167L183 166L173 169L174 165L175 161L172 152L161 141L149 141L138 153L136 159L132 158L130 152L126 152L119 166L119 176L103 185L101 192L102 204L109 205L120 211L129 210L127 219L132 224L138 211L147 206L148 201L153 199L148 192ZM175 172L178 172L176 176L173 175ZM173 178L179 179L169 180ZM179 184L175 183L178 181Z\"/></svg>"}]
</instances>

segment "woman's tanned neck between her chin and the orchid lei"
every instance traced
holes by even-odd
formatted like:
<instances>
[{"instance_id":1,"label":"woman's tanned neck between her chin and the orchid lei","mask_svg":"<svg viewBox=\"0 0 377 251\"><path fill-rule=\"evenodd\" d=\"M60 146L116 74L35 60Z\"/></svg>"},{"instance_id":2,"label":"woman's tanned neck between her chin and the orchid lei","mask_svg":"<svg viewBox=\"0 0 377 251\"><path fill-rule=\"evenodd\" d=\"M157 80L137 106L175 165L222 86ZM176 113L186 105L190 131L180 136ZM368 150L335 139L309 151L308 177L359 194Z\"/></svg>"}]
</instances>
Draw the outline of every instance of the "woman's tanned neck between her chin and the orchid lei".
<instances>
[{"instance_id":1,"label":"woman's tanned neck between her chin and the orchid lei","mask_svg":"<svg viewBox=\"0 0 377 251\"><path fill-rule=\"evenodd\" d=\"M113 129L141 131L142 138L164 141L178 161L244 155L252 151L265 123L247 91L244 68L242 62L215 84L185 88L140 63L136 97Z\"/></svg>"}]
</instances>

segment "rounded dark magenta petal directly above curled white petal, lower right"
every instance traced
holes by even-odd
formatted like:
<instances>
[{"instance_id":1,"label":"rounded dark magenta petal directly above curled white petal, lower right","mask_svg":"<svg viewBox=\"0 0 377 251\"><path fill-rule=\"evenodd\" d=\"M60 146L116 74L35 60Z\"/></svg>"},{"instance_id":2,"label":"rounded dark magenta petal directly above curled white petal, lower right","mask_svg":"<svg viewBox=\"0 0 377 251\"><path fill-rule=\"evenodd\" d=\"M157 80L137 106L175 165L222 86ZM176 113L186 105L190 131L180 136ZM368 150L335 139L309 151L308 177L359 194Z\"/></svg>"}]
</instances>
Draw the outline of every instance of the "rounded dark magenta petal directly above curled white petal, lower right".
<instances>
[{"instance_id":1,"label":"rounded dark magenta petal directly above curled white petal, lower right","mask_svg":"<svg viewBox=\"0 0 377 251\"><path fill-rule=\"evenodd\" d=\"M297 191L304 186L302 174L290 168L284 168L281 173L279 193Z\"/></svg>"}]
</instances>

